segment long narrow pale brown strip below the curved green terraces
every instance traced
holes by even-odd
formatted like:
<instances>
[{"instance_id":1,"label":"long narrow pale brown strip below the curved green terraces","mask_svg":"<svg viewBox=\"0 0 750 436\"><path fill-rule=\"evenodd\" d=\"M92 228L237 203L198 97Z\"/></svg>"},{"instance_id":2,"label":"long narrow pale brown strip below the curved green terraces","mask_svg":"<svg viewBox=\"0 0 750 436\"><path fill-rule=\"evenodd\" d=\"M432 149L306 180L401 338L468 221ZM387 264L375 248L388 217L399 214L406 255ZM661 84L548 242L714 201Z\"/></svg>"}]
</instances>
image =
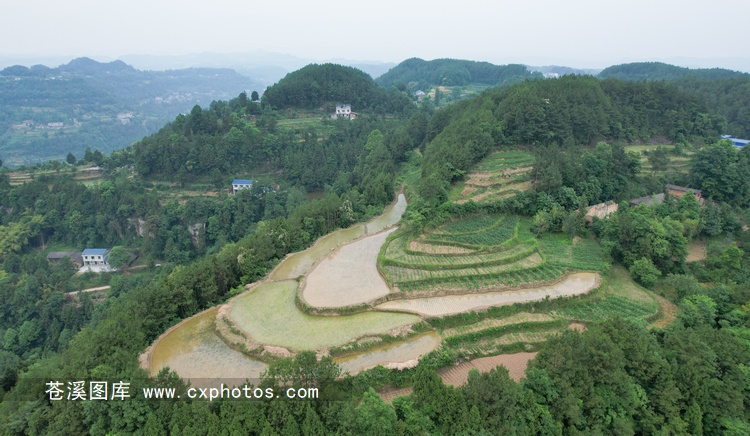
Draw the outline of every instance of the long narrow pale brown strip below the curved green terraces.
<instances>
[{"instance_id":1,"label":"long narrow pale brown strip below the curved green terraces","mask_svg":"<svg viewBox=\"0 0 750 436\"><path fill-rule=\"evenodd\" d=\"M514 303L543 300L546 296L558 298L581 295L594 289L598 286L598 283L599 274L575 273L567 276L557 284L541 288L397 300L380 304L377 308L418 313L424 316L445 316L491 306L505 306Z\"/></svg>"}]
</instances>

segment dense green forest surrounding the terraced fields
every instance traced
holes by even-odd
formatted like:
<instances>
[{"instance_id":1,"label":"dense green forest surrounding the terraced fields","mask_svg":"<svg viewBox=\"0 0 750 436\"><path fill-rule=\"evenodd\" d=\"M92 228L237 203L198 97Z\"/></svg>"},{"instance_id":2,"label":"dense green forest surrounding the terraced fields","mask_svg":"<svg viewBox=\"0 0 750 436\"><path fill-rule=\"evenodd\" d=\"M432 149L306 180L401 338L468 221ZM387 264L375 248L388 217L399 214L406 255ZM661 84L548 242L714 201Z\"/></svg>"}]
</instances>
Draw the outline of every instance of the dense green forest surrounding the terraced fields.
<instances>
[{"instance_id":1,"label":"dense green forest surrounding the terraced fields","mask_svg":"<svg viewBox=\"0 0 750 436\"><path fill-rule=\"evenodd\" d=\"M276 85L289 106L267 96L259 105L243 93L194 107L102 157L107 173L99 183L50 171L11 184L9 172L0 173L2 434L750 432L750 240L743 230L750 150L719 141L721 114L675 84L566 76L489 90L434 112L397 89L363 91L360 117L331 120L325 105L346 97L350 83L340 78L358 73L336 68L329 83L326 68ZM310 96L303 84L311 78L328 91ZM288 90L301 95L293 100ZM302 127L285 124L294 120L290 109L278 110L321 106L317 124ZM682 179L643 172L640 155L625 148L653 139L675 143L673 156L692 153ZM518 147L535 155L532 189L482 205L446 201L449 184L490 151ZM237 174L262 183L234 196L162 196L168 183L227 186ZM410 197L403 226L506 212L529 217L535 234L595 239L639 283L677 304L676 320L647 329L616 319L569 331L539 345L521 382L500 367L472 372L460 388L445 386L437 370L458 357L445 350L414 369L377 367L342 379L330 358L300 353L273 363L263 387L315 386L321 399L82 402L45 394L44 383L56 379L184 390L174 373L149 377L138 355L168 327L264 277L286 254L378 214L397 180ZM708 201L701 207L692 195L667 196L634 208L623 201L675 182L702 189ZM308 198L320 190L322 197ZM618 212L587 227L583 208L607 200L622 201ZM188 226L196 223L205 227L193 238ZM706 259L687 262L696 240L708 241ZM45 259L51 247L91 245L127 247L146 266L75 276L69 263ZM83 294L71 304L64 294L100 283L111 286L101 302ZM410 385L413 393L387 404L374 391L385 385Z\"/></svg>"}]
</instances>

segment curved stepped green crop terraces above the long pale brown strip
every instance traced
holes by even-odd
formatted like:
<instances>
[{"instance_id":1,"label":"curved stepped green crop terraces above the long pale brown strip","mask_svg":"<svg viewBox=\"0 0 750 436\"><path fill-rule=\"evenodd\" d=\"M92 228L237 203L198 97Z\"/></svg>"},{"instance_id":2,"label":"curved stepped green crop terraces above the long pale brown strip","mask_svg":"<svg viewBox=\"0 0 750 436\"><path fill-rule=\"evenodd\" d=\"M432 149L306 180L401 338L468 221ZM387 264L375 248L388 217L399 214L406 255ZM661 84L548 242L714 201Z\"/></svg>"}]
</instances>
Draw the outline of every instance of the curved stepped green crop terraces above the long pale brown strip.
<instances>
[{"instance_id":1,"label":"curved stepped green crop terraces above the long pale brown strip","mask_svg":"<svg viewBox=\"0 0 750 436\"><path fill-rule=\"evenodd\" d=\"M607 269L596 241L538 240L529 225L516 216L476 215L418 237L394 234L381 250L380 271L402 292L466 293L538 287L561 280L569 269Z\"/></svg>"}]
</instances>

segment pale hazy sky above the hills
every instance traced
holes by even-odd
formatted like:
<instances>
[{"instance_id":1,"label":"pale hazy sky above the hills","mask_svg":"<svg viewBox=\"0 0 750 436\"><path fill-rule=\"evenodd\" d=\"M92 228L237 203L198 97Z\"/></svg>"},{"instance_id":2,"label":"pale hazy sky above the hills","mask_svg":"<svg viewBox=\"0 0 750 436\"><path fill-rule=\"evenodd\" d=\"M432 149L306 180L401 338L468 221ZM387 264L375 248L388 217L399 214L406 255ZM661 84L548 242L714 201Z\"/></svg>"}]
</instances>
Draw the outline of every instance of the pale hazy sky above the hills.
<instances>
[{"instance_id":1,"label":"pale hazy sky above the hills","mask_svg":"<svg viewBox=\"0 0 750 436\"><path fill-rule=\"evenodd\" d=\"M316 60L452 57L601 68L695 58L750 68L750 0L3 3L0 55L117 58L261 49Z\"/></svg>"}]
</instances>

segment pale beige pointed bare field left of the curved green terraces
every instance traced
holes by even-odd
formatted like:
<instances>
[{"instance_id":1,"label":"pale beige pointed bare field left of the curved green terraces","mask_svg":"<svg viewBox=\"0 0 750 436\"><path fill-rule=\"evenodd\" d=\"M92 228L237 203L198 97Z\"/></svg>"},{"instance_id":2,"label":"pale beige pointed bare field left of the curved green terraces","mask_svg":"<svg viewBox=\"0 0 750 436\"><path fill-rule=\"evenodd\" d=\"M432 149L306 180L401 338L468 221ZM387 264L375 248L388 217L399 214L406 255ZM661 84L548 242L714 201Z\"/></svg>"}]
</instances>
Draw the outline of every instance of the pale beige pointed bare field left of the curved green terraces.
<instances>
[{"instance_id":1,"label":"pale beige pointed bare field left of the curved green terraces","mask_svg":"<svg viewBox=\"0 0 750 436\"><path fill-rule=\"evenodd\" d=\"M305 279L303 299L313 307L344 307L388 295L377 261L380 247L395 230L344 245L323 259Z\"/></svg>"}]
</instances>

